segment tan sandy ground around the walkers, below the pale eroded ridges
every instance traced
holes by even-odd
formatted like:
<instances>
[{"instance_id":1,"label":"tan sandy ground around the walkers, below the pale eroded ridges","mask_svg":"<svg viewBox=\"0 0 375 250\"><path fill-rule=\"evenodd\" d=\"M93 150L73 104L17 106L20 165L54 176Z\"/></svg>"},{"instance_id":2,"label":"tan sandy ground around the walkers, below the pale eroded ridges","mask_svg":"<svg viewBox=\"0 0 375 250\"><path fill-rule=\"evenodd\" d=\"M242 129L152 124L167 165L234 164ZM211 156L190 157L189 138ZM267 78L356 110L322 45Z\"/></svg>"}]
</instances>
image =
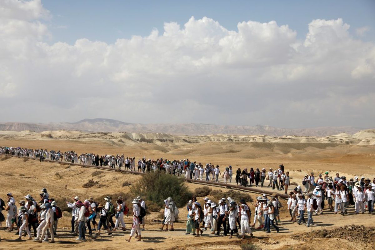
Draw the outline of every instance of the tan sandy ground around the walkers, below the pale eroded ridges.
<instances>
[{"instance_id":1,"label":"tan sandy ground around the walkers, below the pale eroded ridges","mask_svg":"<svg viewBox=\"0 0 375 250\"><path fill-rule=\"evenodd\" d=\"M375 175L375 147L364 145L341 145L341 144L284 144L284 143L242 143L242 142L205 142L181 146L180 148L160 147L154 144L135 144L127 146L113 145L104 140L78 141L78 140L23 140L11 139L0 140L0 145L13 145L20 147L47 148L54 150L75 150L81 152L95 152L98 154L125 154L140 158L156 159L167 157L168 159L189 158L197 162L219 164L220 166L232 165L233 168L255 167L269 168L277 167L283 163L285 169L291 172L291 180L300 183L302 176L306 172L340 172L347 178L359 175L374 177ZM1 157L3 158L3 157ZM102 171L103 174L92 177L95 169L81 168L78 166L59 165L54 163L10 158L0 159L1 187L0 197L5 198L7 192L12 192L17 201L23 199L22 196L30 193L37 196L42 187L47 187L52 197L71 199L78 195L82 198L90 196L100 196L109 193L124 192L128 193L130 187L122 187L124 181L135 183L138 175L120 174L118 172ZM103 186L101 188L82 187L89 179L99 181ZM192 191L201 185L187 184ZM222 189L220 187L211 187L212 189ZM266 188L265 190L270 190ZM253 195L253 197L258 195ZM199 198L202 199L202 198ZM254 208L251 208L254 212ZM180 209L181 218L185 218L186 211ZM6 214L4 211L3 213ZM56 244L53 247L59 249L69 249L86 247L88 249L120 249L126 246L132 249L240 249L240 240L227 237L214 237L210 232L205 232L203 237L196 238L184 235L186 221L181 220L175 224L175 232L162 232L160 224L153 222L158 213L151 213L146 217L146 231L142 232L144 237L141 243L127 243L125 238L129 232L116 232L111 236L102 235L97 240L89 240L86 243L78 243L68 234L70 225L70 215L64 212L63 218L59 221L59 232L56 238ZM299 241L290 238L292 234L320 230L322 228L332 229L338 226L359 224L373 226L375 217L368 214L353 214L353 208L350 207L349 215L341 217L326 212L324 215L314 216L316 226L306 228L304 225L296 225L289 222L288 213L284 208L281 210L280 223L281 233L265 234L263 231L255 231L255 238L251 240L262 249L320 249L322 244L335 243L335 246L350 247L352 249L366 248L360 243L353 243L350 240L341 239L319 239L319 245L313 241ZM130 217L126 217L126 223L131 223ZM4 223L3 223L4 226ZM17 236L14 233L0 231L1 242L0 249L49 249L51 244L39 244L32 241L14 241ZM249 241L249 240L246 240Z\"/></svg>"}]
</instances>

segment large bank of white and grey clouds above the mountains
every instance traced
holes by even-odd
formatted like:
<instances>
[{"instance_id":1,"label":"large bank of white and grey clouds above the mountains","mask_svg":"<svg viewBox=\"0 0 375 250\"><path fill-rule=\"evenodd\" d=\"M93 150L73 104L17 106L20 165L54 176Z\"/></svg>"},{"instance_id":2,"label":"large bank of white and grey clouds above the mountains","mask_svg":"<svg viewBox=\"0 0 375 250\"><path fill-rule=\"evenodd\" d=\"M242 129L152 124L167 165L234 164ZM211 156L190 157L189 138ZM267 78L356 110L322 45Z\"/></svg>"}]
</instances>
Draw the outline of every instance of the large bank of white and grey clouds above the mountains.
<instances>
[{"instance_id":1,"label":"large bank of white and grey clouds above the mountains","mask_svg":"<svg viewBox=\"0 0 375 250\"><path fill-rule=\"evenodd\" d=\"M111 44L77 37L74 45L49 45L49 16L40 1L0 2L0 96L14 103L0 109L7 120L375 122L369 115L375 45L351 37L342 19L311 21L304 40L275 21L240 22L228 30L192 17ZM25 106L48 115L35 118Z\"/></svg>"}]
</instances>

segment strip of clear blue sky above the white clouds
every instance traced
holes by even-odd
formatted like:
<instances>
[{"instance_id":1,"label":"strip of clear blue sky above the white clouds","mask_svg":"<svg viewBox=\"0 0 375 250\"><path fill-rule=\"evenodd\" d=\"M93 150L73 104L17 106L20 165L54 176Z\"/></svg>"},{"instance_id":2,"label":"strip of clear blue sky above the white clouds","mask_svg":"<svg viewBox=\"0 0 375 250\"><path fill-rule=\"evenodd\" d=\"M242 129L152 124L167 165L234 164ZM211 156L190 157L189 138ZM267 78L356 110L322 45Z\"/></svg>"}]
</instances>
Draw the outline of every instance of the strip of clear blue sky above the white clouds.
<instances>
[{"instance_id":1,"label":"strip of clear blue sky above the white clouds","mask_svg":"<svg viewBox=\"0 0 375 250\"><path fill-rule=\"evenodd\" d=\"M132 35L147 36L153 28L163 31L164 22L183 25L194 16L212 18L227 28L237 30L242 21L288 24L303 39L313 19L338 19L356 28L369 27L362 40L375 39L375 1L44 1L51 11L52 38L49 42L68 42L87 38L113 43L118 38Z\"/></svg>"}]
</instances>

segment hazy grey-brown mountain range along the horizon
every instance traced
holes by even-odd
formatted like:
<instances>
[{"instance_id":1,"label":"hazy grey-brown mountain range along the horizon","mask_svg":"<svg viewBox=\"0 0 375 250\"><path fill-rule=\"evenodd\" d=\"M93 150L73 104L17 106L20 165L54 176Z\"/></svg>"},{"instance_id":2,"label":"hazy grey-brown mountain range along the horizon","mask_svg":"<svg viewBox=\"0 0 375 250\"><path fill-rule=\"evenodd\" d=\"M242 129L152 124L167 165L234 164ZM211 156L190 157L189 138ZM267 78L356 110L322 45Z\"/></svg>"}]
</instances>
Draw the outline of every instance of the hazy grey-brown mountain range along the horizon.
<instances>
[{"instance_id":1,"label":"hazy grey-brown mountain range along the horizon","mask_svg":"<svg viewBox=\"0 0 375 250\"><path fill-rule=\"evenodd\" d=\"M46 130L80 130L89 132L133 132L133 133L169 133L177 135L270 135L270 136L327 136L342 132L357 133L363 128L356 127L318 127L311 129L283 129L268 125L234 126L214 124L140 124L123 121L95 118L84 119L75 123L3 123L0 130L42 132Z\"/></svg>"}]
</instances>

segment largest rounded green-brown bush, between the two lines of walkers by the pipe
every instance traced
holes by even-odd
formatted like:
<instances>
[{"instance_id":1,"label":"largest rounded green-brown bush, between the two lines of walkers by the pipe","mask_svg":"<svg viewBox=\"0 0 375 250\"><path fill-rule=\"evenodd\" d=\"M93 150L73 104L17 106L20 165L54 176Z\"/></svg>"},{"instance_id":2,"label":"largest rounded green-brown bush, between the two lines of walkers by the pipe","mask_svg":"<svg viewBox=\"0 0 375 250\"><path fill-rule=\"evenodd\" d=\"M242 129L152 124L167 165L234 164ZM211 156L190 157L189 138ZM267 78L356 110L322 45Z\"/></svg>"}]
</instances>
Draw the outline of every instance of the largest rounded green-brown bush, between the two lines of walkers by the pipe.
<instances>
[{"instance_id":1,"label":"largest rounded green-brown bush, between the two lines of walkers by the pipe","mask_svg":"<svg viewBox=\"0 0 375 250\"><path fill-rule=\"evenodd\" d=\"M160 171L143 175L142 179L132 187L133 196L141 196L143 199L159 205L160 208L168 197L171 197L175 204L181 207L192 196L181 179Z\"/></svg>"}]
</instances>

